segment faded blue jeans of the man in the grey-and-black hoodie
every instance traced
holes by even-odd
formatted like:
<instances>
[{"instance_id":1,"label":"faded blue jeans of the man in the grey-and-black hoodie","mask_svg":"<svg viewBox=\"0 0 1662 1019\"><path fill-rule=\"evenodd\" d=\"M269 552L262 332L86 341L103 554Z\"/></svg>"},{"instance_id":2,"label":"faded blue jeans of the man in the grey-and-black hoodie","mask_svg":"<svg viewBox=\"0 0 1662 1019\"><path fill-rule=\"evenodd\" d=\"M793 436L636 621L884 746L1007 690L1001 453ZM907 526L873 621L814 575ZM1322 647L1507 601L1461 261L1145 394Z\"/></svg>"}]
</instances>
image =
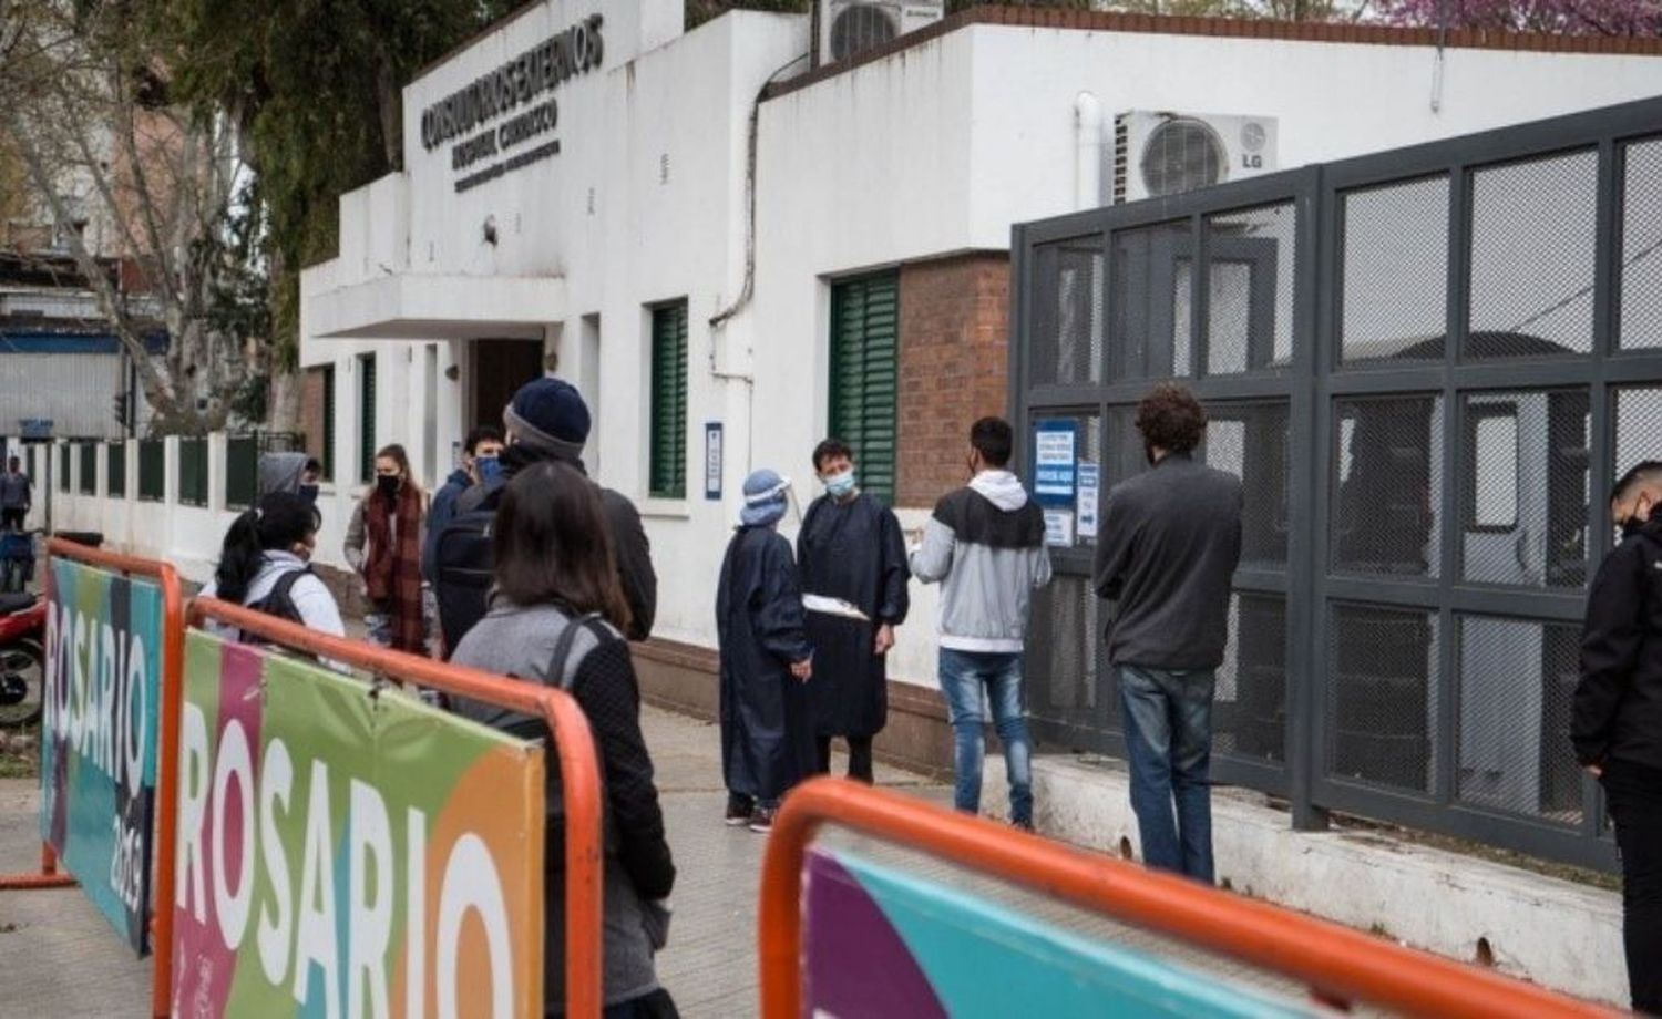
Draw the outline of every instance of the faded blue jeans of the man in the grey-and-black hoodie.
<instances>
[{"instance_id":1,"label":"faded blue jeans of the man in the grey-and-black hoodie","mask_svg":"<svg viewBox=\"0 0 1662 1019\"><path fill-rule=\"evenodd\" d=\"M954 652L941 648L941 693L957 745L954 755L954 806L966 813L981 810L981 760L987 751L982 735L986 716L981 692L987 690L992 725L1004 745L1004 771L1010 780L1010 821L1032 825L1032 743L1022 718L1022 655Z\"/></svg>"}]
</instances>

